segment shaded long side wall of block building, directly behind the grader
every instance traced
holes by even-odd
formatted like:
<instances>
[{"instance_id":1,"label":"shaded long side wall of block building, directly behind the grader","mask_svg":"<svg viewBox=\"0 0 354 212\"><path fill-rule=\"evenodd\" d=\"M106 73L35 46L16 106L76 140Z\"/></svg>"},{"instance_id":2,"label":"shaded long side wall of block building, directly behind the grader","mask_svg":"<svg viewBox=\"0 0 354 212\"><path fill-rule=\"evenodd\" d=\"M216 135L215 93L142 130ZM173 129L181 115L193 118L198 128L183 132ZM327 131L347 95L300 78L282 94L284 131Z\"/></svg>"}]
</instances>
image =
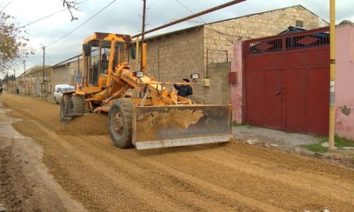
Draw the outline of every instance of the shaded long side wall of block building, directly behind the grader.
<instances>
[{"instance_id":1,"label":"shaded long side wall of block building, directly behind the grader","mask_svg":"<svg viewBox=\"0 0 354 212\"><path fill-rule=\"evenodd\" d=\"M202 28L147 40L147 69L160 81L181 81L190 78L190 73L203 76L203 52Z\"/></svg>"}]
</instances>

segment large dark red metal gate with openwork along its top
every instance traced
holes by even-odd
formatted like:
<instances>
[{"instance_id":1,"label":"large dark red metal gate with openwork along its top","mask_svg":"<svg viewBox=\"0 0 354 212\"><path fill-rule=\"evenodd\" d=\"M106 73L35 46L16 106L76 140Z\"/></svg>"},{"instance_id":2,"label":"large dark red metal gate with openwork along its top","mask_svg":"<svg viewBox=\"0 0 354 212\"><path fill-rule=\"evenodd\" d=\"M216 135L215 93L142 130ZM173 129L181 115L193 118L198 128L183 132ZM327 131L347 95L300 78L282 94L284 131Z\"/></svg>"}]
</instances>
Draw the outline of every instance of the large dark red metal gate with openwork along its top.
<instances>
[{"instance_id":1,"label":"large dark red metal gate with openwork along its top","mask_svg":"<svg viewBox=\"0 0 354 212\"><path fill-rule=\"evenodd\" d=\"M244 42L244 120L256 126L329 131L329 28Z\"/></svg>"}]
</instances>

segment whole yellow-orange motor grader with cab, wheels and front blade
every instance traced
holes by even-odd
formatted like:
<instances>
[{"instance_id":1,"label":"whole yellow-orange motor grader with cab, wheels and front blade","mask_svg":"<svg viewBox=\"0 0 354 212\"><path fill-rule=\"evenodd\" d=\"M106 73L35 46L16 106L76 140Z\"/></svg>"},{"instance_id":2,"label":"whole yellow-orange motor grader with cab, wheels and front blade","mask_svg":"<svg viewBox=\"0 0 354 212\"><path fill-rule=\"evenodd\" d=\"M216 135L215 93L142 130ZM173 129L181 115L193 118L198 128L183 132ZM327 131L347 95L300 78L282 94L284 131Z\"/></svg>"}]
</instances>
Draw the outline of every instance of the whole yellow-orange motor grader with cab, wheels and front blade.
<instances>
[{"instance_id":1,"label":"whole yellow-orange motor grader with cab, wheels and front blade","mask_svg":"<svg viewBox=\"0 0 354 212\"><path fill-rule=\"evenodd\" d=\"M93 33L87 37L76 90L64 93L61 119L108 112L110 136L120 148L188 146L233 138L231 105L195 105L177 95L173 83L149 77L144 43L142 69L132 69L129 61L135 59L135 49L130 35ZM198 78L198 74L192 76Z\"/></svg>"}]
</instances>

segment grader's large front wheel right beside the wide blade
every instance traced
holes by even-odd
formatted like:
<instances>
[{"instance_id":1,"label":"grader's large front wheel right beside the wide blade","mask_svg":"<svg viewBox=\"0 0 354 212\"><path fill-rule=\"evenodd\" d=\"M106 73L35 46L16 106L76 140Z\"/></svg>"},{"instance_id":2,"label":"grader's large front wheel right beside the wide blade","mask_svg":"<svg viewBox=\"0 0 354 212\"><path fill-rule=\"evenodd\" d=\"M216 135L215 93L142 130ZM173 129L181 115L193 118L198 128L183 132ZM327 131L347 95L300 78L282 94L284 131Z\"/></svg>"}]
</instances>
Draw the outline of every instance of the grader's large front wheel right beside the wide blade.
<instances>
[{"instance_id":1,"label":"grader's large front wheel right beside the wide blade","mask_svg":"<svg viewBox=\"0 0 354 212\"><path fill-rule=\"evenodd\" d=\"M108 113L108 128L113 143L119 148L131 148L132 113L134 103L128 99L115 100Z\"/></svg>"}]
</instances>

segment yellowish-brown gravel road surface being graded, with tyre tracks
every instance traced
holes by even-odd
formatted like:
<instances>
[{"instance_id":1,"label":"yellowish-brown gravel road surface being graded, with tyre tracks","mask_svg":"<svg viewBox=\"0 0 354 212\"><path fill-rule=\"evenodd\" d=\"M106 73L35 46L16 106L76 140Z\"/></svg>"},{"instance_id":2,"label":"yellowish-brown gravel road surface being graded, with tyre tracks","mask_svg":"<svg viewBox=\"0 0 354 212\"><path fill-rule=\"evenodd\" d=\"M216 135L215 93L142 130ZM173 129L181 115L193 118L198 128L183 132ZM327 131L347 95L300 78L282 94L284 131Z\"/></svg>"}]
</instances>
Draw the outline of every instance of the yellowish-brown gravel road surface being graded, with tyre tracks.
<instances>
[{"instance_id":1,"label":"yellowish-brown gravel road surface being graded, with tyre tracks","mask_svg":"<svg viewBox=\"0 0 354 212\"><path fill-rule=\"evenodd\" d=\"M237 141L122 150L103 134L107 126L99 124L105 122L102 116L64 125L59 105L8 94L1 100L13 117L22 119L13 126L42 146L42 161L55 181L89 211L354 208L354 170L346 167ZM71 131L63 134L68 126Z\"/></svg>"}]
</instances>

